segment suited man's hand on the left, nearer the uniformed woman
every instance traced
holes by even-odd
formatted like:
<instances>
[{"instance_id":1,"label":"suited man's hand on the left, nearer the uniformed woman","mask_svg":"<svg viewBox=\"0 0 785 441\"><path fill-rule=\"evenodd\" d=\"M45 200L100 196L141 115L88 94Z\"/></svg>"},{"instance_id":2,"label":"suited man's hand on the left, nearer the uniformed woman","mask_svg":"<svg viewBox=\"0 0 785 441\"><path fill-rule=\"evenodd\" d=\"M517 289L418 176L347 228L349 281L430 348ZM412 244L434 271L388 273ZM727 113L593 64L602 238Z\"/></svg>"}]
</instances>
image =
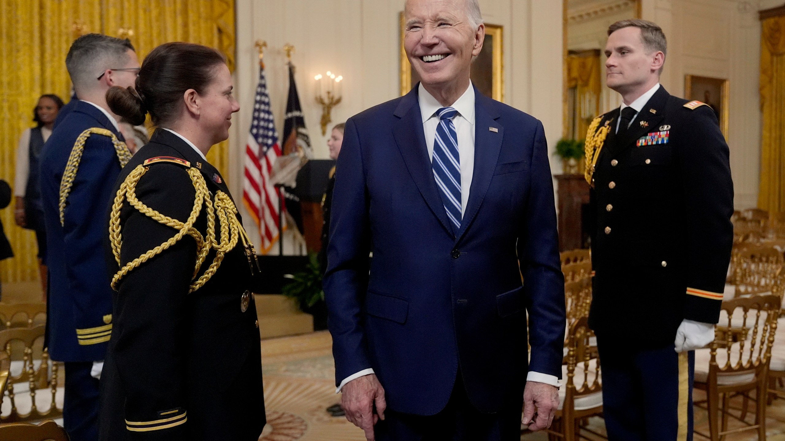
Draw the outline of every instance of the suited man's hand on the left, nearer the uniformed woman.
<instances>
[{"instance_id":1,"label":"suited man's hand on the left, nearer the uniformed woman","mask_svg":"<svg viewBox=\"0 0 785 441\"><path fill-rule=\"evenodd\" d=\"M374 441L374 425L379 419L385 419L387 408L382 383L379 383L375 374L368 374L346 383L341 394L341 407L346 413L346 419L363 429L368 441Z\"/></svg>"}]
</instances>

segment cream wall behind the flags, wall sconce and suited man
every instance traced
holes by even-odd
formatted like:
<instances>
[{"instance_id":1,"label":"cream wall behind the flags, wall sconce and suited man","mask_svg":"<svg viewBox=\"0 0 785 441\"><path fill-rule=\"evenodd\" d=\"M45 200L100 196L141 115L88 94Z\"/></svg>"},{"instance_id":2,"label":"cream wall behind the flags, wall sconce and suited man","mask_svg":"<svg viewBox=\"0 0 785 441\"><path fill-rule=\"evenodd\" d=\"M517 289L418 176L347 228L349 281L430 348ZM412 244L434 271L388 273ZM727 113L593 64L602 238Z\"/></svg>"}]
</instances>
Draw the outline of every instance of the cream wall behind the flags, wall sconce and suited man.
<instances>
[{"instance_id":1,"label":"cream wall behind the flags, wall sconce and suited man","mask_svg":"<svg viewBox=\"0 0 785 441\"><path fill-rule=\"evenodd\" d=\"M561 135L562 7L555 0L480 0L484 20L504 26L505 102L539 118L553 149ZM276 127L283 129L287 69L292 61L317 159L327 158L319 129L314 75L327 70L345 78L333 123L400 95L399 13L403 0L236 0L235 84L241 110L231 133L230 185L242 197L243 152L257 84L254 42L266 40L265 73ZM280 135L280 133L279 133ZM329 133L328 133L329 135ZM552 160L554 173L560 162ZM254 232L251 232L254 234Z\"/></svg>"}]
</instances>

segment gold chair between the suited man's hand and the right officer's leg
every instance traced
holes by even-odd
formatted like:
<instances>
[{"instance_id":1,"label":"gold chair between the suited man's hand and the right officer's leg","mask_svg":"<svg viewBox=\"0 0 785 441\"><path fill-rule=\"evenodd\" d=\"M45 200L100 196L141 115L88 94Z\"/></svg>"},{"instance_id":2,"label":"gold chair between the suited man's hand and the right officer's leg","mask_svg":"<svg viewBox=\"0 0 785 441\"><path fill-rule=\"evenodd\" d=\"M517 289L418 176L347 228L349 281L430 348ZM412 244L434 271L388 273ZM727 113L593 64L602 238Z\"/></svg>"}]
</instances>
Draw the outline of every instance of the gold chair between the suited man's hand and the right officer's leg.
<instances>
[{"instance_id":1,"label":"gold chair between the suited man's hand and the right officer's leg","mask_svg":"<svg viewBox=\"0 0 785 441\"><path fill-rule=\"evenodd\" d=\"M546 431L549 439L575 441L582 438L581 431L603 437L582 424L587 418L602 414L600 359L597 348L590 344L592 337L586 317L570 327L562 366L565 381L559 388L559 408L553 425Z\"/></svg>"}]
</instances>

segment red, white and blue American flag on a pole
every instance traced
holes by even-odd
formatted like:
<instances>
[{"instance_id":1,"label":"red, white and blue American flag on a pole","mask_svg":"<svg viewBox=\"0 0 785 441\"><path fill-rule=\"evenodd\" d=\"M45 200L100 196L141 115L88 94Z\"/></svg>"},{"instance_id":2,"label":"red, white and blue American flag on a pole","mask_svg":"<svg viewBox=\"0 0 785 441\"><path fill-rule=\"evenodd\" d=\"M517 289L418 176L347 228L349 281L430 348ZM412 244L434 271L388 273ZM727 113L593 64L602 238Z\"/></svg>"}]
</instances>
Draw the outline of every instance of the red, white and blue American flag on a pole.
<instances>
[{"instance_id":1,"label":"red, white and blue American flag on a pole","mask_svg":"<svg viewBox=\"0 0 785 441\"><path fill-rule=\"evenodd\" d=\"M270 184L272 165L280 155L276 123L270 111L265 67L260 64L259 86L256 88L254 100L254 118L246 144L243 203L259 228L262 254L272 249L281 231L278 224L279 192ZM284 222L286 222L285 217ZM284 228L286 228L285 224Z\"/></svg>"}]
</instances>

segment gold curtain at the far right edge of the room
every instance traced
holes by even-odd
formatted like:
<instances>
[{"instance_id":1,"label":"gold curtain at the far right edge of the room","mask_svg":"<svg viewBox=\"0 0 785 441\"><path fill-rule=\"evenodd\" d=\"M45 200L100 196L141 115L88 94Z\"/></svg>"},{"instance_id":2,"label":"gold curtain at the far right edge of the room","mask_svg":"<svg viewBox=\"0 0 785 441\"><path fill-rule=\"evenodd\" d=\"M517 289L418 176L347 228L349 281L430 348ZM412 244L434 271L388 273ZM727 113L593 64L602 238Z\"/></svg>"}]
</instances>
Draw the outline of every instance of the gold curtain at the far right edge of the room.
<instances>
[{"instance_id":1,"label":"gold curtain at the far right edge of the room","mask_svg":"<svg viewBox=\"0 0 785 441\"><path fill-rule=\"evenodd\" d=\"M785 16L762 21L761 188L758 207L785 211Z\"/></svg>"}]
</instances>

